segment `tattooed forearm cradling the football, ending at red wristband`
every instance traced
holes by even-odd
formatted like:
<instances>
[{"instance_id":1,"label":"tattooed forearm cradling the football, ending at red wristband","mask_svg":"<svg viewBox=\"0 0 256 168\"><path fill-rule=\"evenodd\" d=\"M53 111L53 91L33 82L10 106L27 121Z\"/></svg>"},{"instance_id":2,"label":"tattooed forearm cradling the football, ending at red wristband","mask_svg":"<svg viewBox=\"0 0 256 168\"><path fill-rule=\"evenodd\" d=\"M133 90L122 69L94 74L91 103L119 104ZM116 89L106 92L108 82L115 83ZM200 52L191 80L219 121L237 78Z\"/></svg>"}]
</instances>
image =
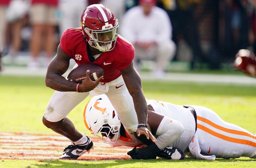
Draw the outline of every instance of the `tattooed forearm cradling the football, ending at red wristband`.
<instances>
[{"instance_id":1,"label":"tattooed forearm cradling the football, ending at red wristband","mask_svg":"<svg viewBox=\"0 0 256 168\"><path fill-rule=\"evenodd\" d=\"M61 92L75 92L77 83L66 80L63 76L56 73L47 73L45 85Z\"/></svg>"}]
</instances>

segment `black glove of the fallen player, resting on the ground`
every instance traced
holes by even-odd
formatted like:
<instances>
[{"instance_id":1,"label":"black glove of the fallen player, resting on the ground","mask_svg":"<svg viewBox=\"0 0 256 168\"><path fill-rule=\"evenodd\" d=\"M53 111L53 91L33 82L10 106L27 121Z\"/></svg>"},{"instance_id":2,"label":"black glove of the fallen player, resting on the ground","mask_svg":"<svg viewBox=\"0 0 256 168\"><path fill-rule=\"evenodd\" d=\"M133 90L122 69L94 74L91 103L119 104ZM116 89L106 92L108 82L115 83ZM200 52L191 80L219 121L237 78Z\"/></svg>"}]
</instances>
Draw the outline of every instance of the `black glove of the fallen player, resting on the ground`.
<instances>
[{"instance_id":1,"label":"black glove of the fallen player, resting on the ground","mask_svg":"<svg viewBox=\"0 0 256 168\"><path fill-rule=\"evenodd\" d=\"M131 151L127 152L132 159L156 159L156 155L159 155L162 150L160 150L155 143L151 143L145 148L134 147Z\"/></svg>"}]
</instances>

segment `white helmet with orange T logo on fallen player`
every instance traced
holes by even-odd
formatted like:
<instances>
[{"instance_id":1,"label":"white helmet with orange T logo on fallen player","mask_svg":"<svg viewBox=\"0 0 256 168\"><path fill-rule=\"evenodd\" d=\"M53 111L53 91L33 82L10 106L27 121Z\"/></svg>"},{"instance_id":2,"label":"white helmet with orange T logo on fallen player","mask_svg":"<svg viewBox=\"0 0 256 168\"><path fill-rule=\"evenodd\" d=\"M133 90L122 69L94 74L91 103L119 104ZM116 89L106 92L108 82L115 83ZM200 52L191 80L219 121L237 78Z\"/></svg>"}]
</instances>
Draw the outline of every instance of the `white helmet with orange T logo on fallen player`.
<instances>
[{"instance_id":1,"label":"white helmet with orange T logo on fallen player","mask_svg":"<svg viewBox=\"0 0 256 168\"><path fill-rule=\"evenodd\" d=\"M105 94L94 96L86 104L84 124L93 136L99 136L104 143L116 143L120 138L121 122Z\"/></svg>"}]
</instances>

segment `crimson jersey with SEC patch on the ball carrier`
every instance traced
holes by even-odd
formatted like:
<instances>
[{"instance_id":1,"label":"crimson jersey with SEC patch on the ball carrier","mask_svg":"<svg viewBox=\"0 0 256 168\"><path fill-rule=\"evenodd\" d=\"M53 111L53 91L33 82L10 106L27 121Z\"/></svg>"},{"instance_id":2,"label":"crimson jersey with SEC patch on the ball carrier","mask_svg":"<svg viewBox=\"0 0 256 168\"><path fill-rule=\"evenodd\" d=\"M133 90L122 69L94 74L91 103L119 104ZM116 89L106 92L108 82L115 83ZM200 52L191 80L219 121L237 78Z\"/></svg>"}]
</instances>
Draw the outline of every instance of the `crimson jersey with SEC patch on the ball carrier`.
<instances>
[{"instance_id":1,"label":"crimson jersey with SEC patch on the ball carrier","mask_svg":"<svg viewBox=\"0 0 256 168\"><path fill-rule=\"evenodd\" d=\"M100 57L91 62L87 54L87 41L81 33L82 28L66 30L60 39L61 49L76 61L78 65L91 63L103 68L104 79L101 82L110 82L121 75L121 70L129 66L134 57L134 47L122 36L118 35L113 50L103 52ZM112 44L113 45L113 44Z\"/></svg>"}]
</instances>

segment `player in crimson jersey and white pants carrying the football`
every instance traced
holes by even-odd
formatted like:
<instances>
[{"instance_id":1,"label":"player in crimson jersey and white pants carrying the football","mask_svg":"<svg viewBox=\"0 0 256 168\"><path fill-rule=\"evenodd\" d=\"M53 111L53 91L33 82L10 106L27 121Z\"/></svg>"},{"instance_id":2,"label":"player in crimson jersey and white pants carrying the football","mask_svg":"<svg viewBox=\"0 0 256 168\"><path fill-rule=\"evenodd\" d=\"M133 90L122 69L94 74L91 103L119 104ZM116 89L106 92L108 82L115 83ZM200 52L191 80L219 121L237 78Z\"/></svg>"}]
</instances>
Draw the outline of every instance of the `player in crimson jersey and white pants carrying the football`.
<instances>
[{"instance_id":1,"label":"player in crimson jersey and white pants carrying the football","mask_svg":"<svg viewBox=\"0 0 256 168\"><path fill-rule=\"evenodd\" d=\"M45 83L55 91L44 112L43 123L53 131L71 140L61 159L77 159L93 148L92 141L76 130L66 116L89 94L105 93L115 107L123 125L130 133L146 135L156 142L147 129L147 103L141 79L133 67L134 48L117 34L118 21L112 11L101 4L85 8L80 28L66 30L60 39L57 55L48 66ZM104 69L104 78L82 84L66 80L69 60L77 65L96 64ZM86 76L90 71L87 70ZM104 111L104 109L102 109Z\"/></svg>"}]
</instances>

